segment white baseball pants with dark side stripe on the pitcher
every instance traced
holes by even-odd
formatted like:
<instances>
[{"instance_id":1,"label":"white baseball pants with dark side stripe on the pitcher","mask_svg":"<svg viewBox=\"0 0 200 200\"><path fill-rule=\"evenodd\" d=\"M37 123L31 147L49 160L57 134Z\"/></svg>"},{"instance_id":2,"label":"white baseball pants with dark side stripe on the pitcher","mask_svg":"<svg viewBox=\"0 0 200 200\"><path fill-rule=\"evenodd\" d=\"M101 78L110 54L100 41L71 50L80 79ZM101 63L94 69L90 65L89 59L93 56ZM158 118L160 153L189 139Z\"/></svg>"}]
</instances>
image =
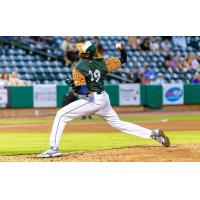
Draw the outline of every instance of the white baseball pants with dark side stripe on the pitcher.
<instances>
[{"instance_id":1,"label":"white baseball pants with dark side stripe on the pitcher","mask_svg":"<svg viewBox=\"0 0 200 200\"><path fill-rule=\"evenodd\" d=\"M110 99L106 92L102 92L102 94L94 92L83 99L70 103L57 112L51 132L50 146L54 148L59 146L67 122L90 114L103 117L110 126L121 132L142 138L150 138L151 130L119 119L117 113L110 104Z\"/></svg>"}]
</instances>

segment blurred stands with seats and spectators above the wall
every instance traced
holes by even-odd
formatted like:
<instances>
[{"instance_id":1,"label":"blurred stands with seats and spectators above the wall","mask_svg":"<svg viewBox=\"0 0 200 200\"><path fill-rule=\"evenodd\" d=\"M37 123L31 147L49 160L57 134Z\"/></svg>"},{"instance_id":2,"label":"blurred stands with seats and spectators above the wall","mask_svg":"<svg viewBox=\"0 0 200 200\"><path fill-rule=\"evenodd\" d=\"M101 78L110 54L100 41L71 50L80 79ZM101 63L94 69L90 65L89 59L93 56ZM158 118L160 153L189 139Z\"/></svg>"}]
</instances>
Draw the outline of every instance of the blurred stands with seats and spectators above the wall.
<instances>
[{"instance_id":1,"label":"blurred stands with seats and spectators above the wall","mask_svg":"<svg viewBox=\"0 0 200 200\"><path fill-rule=\"evenodd\" d=\"M162 74L168 83L191 83L200 72L200 37L0 37L0 73L17 72L19 78L34 83L64 84L78 59L75 43L93 40L97 56L118 55L123 42L128 62L108 76L106 83L154 82ZM151 73L145 73L145 66ZM141 74L134 76L134 68ZM144 76L143 76L144 74ZM161 76L162 76L161 75Z\"/></svg>"}]
</instances>

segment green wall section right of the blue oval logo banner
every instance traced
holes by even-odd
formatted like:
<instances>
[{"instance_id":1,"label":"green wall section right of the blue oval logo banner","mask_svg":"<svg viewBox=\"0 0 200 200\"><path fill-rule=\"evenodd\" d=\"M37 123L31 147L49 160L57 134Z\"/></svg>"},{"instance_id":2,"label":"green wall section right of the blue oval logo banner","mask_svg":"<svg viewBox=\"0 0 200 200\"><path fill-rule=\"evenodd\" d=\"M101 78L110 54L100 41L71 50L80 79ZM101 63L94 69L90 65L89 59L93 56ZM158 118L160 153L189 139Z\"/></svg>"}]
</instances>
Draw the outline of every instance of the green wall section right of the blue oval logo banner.
<instances>
[{"instance_id":1,"label":"green wall section right of the blue oval logo banner","mask_svg":"<svg viewBox=\"0 0 200 200\"><path fill-rule=\"evenodd\" d=\"M200 104L200 85L184 85L184 104Z\"/></svg>"}]
</instances>

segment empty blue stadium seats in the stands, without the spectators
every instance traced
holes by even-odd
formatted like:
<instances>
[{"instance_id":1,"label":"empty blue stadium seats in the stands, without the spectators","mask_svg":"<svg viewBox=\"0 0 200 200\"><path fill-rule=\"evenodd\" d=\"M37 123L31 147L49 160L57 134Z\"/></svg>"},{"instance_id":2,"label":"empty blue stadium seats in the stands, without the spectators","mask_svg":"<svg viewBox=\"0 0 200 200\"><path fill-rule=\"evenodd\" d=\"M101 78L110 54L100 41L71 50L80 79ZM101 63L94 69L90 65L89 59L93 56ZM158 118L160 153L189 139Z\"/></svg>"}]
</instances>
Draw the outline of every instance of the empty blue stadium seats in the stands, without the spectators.
<instances>
[{"instance_id":1,"label":"empty blue stadium seats in the stands, without the spectators","mask_svg":"<svg viewBox=\"0 0 200 200\"><path fill-rule=\"evenodd\" d=\"M21 79L31 81L32 83L64 84L64 79L71 74L71 69L61 59L64 54L59 46L64 40L64 37L52 37L52 40L46 43L44 40L45 45L41 45L41 43L32 44L24 38L26 37L21 37L17 41L16 38L14 40L9 39L8 43L1 41L0 73L16 71L19 73ZM90 36L84 38L85 40L92 39ZM76 40L76 37L73 37L73 39ZM119 52L115 49L115 44L121 41L127 44L128 39L128 36L100 37L104 49L104 57L119 55ZM115 72L115 75L130 79L130 72L133 67L142 67L147 63L151 68L154 68L156 73L163 73L167 82L189 83L197 70L184 72L178 67L167 69L163 65L167 55L174 56L178 54L180 57L186 57L190 53L196 54L198 52L200 48L200 37L190 37L187 39L189 42L186 49L176 46L168 53L164 51L136 51L126 45L128 62L122 69ZM3 38L3 40L8 40L8 38ZM109 76L106 80L106 83L110 84L119 82L121 81L117 80L117 78Z\"/></svg>"}]
</instances>

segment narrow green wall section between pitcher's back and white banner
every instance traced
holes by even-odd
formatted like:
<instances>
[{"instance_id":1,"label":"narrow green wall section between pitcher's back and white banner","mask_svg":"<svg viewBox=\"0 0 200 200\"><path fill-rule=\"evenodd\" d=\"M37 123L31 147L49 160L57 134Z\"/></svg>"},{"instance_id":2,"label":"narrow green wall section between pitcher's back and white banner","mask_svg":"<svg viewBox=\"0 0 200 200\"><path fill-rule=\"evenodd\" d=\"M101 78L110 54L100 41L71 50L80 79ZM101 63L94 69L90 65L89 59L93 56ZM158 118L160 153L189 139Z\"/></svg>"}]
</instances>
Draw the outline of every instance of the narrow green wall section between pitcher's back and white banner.
<instances>
[{"instance_id":1,"label":"narrow green wall section between pitcher's back and white banner","mask_svg":"<svg viewBox=\"0 0 200 200\"><path fill-rule=\"evenodd\" d=\"M118 106L119 105L119 86L105 85L104 90L109 94L111 105Z\"/></svg>"}]
</instances>

